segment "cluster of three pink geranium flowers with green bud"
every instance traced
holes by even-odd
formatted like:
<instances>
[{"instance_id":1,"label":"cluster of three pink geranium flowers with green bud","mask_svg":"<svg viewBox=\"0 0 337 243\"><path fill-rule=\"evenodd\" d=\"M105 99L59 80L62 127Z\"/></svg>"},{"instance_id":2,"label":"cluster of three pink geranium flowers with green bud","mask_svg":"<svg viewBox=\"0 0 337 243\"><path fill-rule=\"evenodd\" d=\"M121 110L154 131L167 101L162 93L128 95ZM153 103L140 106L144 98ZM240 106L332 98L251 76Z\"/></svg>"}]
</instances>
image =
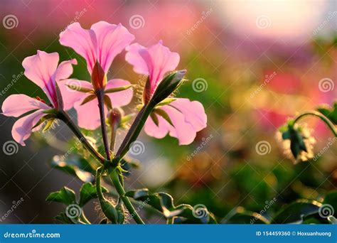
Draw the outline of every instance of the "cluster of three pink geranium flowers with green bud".
<instances>
[{"instance_id":1,"label":"cluster of three pink geranium flowers with green bud","mask_svg":"<svg viewBox=\"0 0 337 243\"><path fill-rule=\"evenodd\" d=\"M60 33L60 44L72 48L85 59L90 82L70 78L73 65L77 64L75 59L58 65L58 53L41 50L25 58L24 75L41 87L48 100L18 94L4 101L2 112L5 116L23 116L13 126L14 140L24 146L32 131L43 126L48 129L58 119L58 112L71 108L77 112L78 126L89 130L102 126L102 114L108 118L119 113L121 107L131 102L133 85L127 80L109 80L107 74L114 58L126 50L125 60L134 67L134 72L148 75L143 106L155 104L146 117L146 134L157 139L169 134L181 145L191 144L196 132L205 128L207 117L200 102L171 95L186 74L186 70L173 72L179 63L178 53L171 52L162 41L147 48L133 41L134 36L122 24L105 21L93 24L90 29L73 23Z\"/></svg>"}]
</instances>

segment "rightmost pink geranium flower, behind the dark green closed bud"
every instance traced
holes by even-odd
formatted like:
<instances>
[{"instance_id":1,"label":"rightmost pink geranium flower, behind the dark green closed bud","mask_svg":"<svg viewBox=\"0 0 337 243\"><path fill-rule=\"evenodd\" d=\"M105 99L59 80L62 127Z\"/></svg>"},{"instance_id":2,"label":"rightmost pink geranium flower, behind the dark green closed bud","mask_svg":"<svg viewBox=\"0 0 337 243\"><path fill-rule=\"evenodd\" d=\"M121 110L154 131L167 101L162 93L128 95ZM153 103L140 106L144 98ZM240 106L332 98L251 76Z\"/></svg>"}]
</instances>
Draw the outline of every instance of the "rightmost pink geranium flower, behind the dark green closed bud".
<instances>
[{"instance_id":1,"label":"rightmost pink geranium flower, behind the dark green closed bud","mask_svg":"<svg viewBox=\"0 0 337 243\"><path fill-rule=\"evenodd\" d=\"M127 47L126 60L134 66L134 71L149 75L143 94L146 104L156 91L166 72L175 70L179 63L178 53L172 53L159 41L149 48L134 43ZM183 98L171 99L169 104L159 105L146 120L144 131L149 136L161 139L166 134L176 137L180 145L191 144L196 132L207 124L205 109L200 102Z\"/></svg>"}]
</instances>

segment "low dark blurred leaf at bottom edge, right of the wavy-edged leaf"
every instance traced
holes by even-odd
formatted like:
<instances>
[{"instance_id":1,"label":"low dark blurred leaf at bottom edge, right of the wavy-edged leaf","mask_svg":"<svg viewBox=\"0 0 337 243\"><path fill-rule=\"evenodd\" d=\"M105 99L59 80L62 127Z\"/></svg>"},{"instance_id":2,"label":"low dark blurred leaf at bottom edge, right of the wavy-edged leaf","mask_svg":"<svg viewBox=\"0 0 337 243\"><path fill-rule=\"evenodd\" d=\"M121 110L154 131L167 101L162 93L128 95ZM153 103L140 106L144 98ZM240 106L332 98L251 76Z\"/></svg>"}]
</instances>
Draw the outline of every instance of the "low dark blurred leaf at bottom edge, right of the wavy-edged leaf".
<instances>
[{"instance_id":1,"label":"low dark blurred leaf at bottom edge, right of the wavy-edged leaf","mask_svg":"<svg viewBox=\"0 0 337 243\"><path fill-rule=\"evenodd\" d=\"M228 217L223 220L225 224L269 224L269 220L257 212L245 210L243 207L237 207L232 210Z\"/></svg>"}]
</instances>

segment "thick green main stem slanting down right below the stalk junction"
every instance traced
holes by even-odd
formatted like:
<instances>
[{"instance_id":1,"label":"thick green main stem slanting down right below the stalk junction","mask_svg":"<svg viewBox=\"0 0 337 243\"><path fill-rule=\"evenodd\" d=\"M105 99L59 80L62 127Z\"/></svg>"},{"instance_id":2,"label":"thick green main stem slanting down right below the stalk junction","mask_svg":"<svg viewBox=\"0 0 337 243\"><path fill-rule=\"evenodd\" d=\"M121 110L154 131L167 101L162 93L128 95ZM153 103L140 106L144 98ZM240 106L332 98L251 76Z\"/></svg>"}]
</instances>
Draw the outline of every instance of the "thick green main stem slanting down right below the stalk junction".
<instances>
[{"instance_id":1,"label":"thick green main stem slanting down right below the stalk junction","mask_svg":"<svg viewBox=\"0 0 337 243\"><path fill-rule=\"evenodd\" d=\"M129 210L129 213L134 218L134 221L137 222L137 224L144 225L144 221L141 220L141 217L139 217L137 211L134 209L134 206L130 202L129 198L125 196L125 190L119 180L119 176L117 173L117 168L114 168L112 172L110 173L110 178L112 180L112 183L114 184L114 187L117 190L117 193L119 194L119 197L122 198L125 207L127 207L127 210Z\"/></svg>"}]
</instances>

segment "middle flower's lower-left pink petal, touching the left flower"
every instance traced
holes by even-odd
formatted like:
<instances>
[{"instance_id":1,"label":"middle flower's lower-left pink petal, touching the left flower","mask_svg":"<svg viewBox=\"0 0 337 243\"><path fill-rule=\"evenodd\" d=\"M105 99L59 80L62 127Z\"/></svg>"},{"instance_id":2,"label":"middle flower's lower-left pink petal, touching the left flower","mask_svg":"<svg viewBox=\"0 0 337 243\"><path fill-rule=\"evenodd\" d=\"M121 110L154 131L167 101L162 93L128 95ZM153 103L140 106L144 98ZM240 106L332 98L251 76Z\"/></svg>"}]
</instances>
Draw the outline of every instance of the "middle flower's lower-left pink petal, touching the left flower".
<instances>
[{"instance_id":1,"label":"middle flower's lower-left pink petal, touching the left flower","mask_svg":"<svg viewBox=\"0 0 337 243\"><path fill-rule=\"evenodd\" d=\"M68 85L73 87L84 87L92 90L91 83L87 81L72 79L59 81L58 87L60 87L60 92L63 99L63 107L65 110L73 108L75 102L83 99L83 97L87 97L87 93L73 90Z\"/></svg>"}]
</instances>

